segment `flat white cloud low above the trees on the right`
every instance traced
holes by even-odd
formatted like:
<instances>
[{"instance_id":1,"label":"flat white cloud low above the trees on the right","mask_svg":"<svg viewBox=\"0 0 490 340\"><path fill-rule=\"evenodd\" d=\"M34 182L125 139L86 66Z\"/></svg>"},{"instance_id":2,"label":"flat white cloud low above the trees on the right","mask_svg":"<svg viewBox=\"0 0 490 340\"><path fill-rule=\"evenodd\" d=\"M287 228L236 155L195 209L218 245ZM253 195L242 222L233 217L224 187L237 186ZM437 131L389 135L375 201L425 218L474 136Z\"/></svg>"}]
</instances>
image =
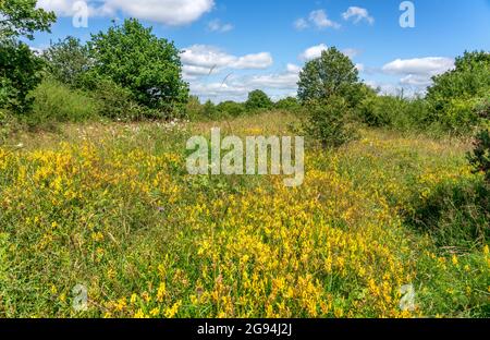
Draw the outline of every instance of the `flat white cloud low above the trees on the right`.
<instances>
[{"instance_id":1,"label":"flat white cloud low above the trees on the right","mask_svg":"<svg viewBox=\"0 0 490 340\"><path fill-rule=\"evenodd\" d=\"M387 63L382 71L389 74L417 74L433 76L454 68L454 59L443 57L428 57L415 59L396 59Z\"/></svg>"}]
</instances>

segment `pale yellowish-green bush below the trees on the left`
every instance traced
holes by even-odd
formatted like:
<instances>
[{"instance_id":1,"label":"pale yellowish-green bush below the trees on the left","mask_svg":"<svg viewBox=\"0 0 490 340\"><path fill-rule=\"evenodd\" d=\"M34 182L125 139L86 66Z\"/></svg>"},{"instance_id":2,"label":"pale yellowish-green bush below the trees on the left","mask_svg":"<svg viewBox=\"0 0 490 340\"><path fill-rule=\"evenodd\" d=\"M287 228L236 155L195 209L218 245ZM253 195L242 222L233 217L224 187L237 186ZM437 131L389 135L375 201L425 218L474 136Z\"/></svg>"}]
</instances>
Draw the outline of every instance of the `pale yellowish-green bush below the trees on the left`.
<instances>
[{"instance_id":1,"label":"pale yellowish-green bush below the trees on the left","mask_svg":"<svg viewBox=\"0 0 490 340\"><path fill-rule=\"evenodd\" d=\"M82 90L46 78L32 94L33 112L24 117L29 126L53 122L83 122L98 117L99 102Z\"/></svg>"}]
</instances>

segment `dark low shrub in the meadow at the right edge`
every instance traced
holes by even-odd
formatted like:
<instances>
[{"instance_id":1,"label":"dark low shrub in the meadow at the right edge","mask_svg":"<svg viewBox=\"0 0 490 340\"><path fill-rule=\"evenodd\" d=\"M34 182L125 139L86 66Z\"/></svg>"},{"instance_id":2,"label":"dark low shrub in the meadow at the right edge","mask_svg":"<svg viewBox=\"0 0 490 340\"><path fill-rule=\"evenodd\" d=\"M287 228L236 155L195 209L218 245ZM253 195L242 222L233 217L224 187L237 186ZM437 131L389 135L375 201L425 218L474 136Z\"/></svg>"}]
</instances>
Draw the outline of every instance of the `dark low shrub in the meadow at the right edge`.
<instances>
[{"instance_id":1,"label":"dark low shrub in the meadow at the right edge","mask_svg":"<svg viewBox=\"0 0 490 340\"><path fill-rule=\"evenodd\" d=\"M438 246L482 247L490 235L490 187L480 180L439 184L427 199L416 199L408 222Z\"/></svg>"}]
</instances>

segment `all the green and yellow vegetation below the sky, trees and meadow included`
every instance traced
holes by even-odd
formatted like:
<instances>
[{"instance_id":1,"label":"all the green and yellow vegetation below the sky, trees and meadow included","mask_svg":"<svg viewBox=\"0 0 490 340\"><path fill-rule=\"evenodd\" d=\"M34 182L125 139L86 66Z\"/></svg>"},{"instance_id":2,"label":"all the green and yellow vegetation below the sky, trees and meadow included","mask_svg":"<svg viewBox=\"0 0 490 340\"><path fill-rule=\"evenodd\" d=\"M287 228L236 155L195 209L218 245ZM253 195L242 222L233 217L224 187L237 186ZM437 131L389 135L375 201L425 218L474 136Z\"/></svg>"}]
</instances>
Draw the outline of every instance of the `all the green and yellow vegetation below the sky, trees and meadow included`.
<instances>
[{"instance_id":1,"label":"all the green and yellow vegetation below the sky, trees and meadow included","mask_svg":"<svg viewBox=\"0 0 490 340\"><path fill-rule=\"evenodd\" d=\"M201 104L136 20L34 53L35 5L0 2L0 317L490 316L488 52L416 98L330 48L297 98ZM212 126L305 135L304 184L188 174Z\"/></svg>"}]
</instances>

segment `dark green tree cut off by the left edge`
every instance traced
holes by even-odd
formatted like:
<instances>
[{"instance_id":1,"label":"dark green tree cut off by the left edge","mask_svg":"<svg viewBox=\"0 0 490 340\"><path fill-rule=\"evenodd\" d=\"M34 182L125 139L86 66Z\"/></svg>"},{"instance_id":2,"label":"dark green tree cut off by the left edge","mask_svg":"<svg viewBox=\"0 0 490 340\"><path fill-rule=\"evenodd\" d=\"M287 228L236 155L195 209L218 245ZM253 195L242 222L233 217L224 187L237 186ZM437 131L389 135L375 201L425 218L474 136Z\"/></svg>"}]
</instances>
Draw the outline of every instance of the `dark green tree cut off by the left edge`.
<instances>
[{"instance_id":1,"label":"dark green tree cut off by the left edge","mask_svg":"<svg viewBox=\"0 0 490 340\"><path fill-rule=\"evenodd\" d=\"M49 32L51 12L36 8L36 0L0 1L0 107L15 112L30 109L27 94L41 80L41 60L21 39L34 39L37 31Z\"/></svg>"}]
</instances>

